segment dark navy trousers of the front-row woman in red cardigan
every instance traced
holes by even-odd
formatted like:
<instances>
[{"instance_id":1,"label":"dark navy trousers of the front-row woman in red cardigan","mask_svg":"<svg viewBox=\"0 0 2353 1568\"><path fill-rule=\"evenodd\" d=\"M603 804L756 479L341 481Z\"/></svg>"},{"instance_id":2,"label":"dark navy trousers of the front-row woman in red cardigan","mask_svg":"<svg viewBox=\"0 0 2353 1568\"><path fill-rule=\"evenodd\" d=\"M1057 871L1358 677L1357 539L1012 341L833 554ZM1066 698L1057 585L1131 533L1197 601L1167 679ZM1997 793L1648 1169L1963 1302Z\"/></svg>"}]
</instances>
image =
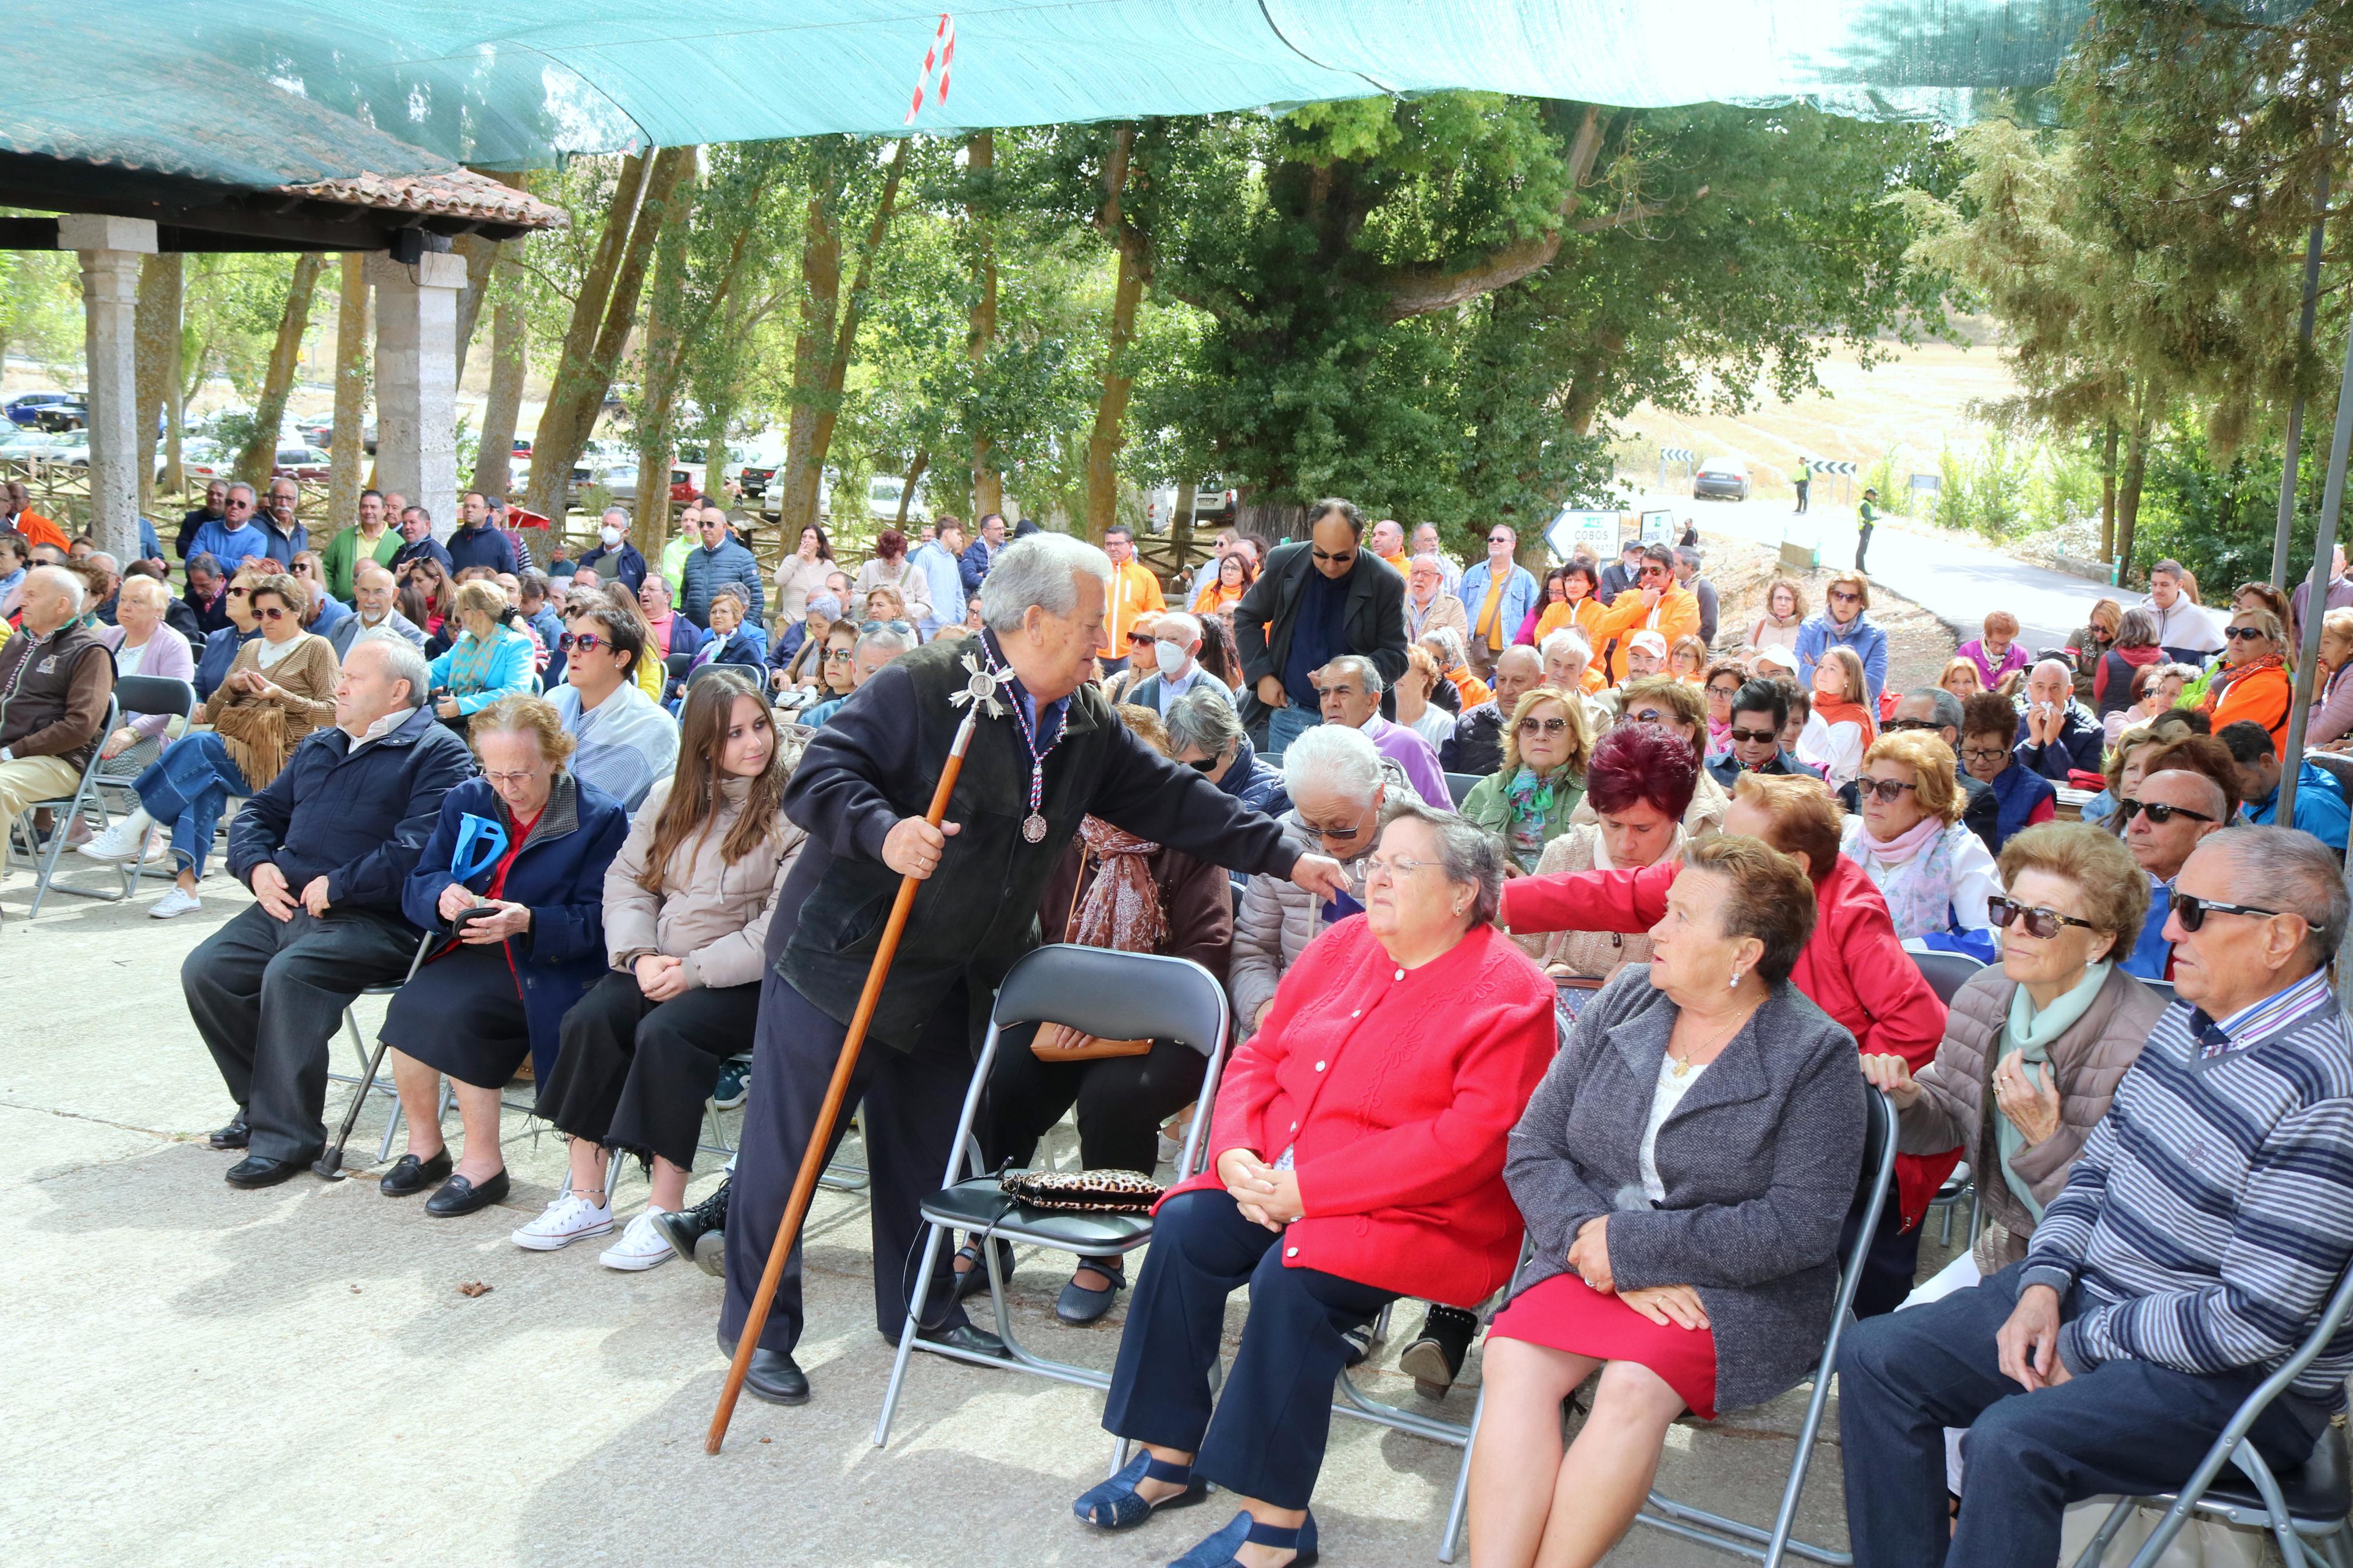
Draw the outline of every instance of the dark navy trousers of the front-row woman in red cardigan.
<instances>
[{"instance_id":1,"label":"dark navy trousers of the front-row woman in red cardigan","mask_svg":"<svg viewBox=\"0 0 2353 1568\"><path fill-rule=\"evenodd\" d=\"M1193 1474L1235 1495L1304 1509L1332 1436L1332 1380L1348 1366L1341 1333L1369 1324L1395 1293L1287 1269L1280 1244L1224 1192L1186 1192L1160 1206L1104 1429L1191 1453ZM1249 1319L1212 1413L1226 1298L1245 1281Z\"/></svg>"}]
</instances>

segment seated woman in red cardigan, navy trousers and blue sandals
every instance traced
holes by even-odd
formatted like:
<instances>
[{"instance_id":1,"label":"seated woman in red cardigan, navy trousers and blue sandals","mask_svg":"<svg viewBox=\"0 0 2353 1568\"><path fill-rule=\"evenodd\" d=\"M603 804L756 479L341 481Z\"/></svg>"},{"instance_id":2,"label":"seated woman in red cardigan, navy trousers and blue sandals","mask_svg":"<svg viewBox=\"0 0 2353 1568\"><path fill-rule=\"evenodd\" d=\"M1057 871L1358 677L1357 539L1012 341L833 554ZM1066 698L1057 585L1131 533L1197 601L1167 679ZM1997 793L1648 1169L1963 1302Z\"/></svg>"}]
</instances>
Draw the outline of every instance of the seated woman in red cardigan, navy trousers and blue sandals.
<instances>
[{"instance_id":1,"label":"seated woman in red cardigan, navy trousers and blue sandals","mask_svg":"<svg viewBox=\"0 0 2353 1568\"><path fill-rule=\"evenodd\" d=\"M1075 1505L1125 1530L1207 1483L1233 1521L1176 1559L1315 1554L1308 1495L1348 1328L1511 1279L1504 1140L1553 1058L1553 987L1494 929L1504 851L1412 804L1367 858L1365 914L1308 945L1217 1091L1209 1171L1160 1201L1104 1427L1136 1458ZM1209 1408L1226 1298L1249 1321Z\"/></svg>"}]
</instances>

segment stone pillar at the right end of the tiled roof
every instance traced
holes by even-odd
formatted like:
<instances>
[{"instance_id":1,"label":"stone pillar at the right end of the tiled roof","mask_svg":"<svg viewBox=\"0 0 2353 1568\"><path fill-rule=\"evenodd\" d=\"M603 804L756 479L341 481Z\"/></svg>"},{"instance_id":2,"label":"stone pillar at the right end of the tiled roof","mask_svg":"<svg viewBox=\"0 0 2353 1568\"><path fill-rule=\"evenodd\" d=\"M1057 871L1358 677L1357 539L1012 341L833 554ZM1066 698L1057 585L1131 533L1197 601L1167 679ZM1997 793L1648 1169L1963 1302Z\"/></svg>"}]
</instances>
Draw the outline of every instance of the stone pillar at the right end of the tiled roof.
<instances>
[{"instance_id":1,"label":"stone pillar at the right end of the tiled roof","mask_svg":"<svg viewBox=\"0 0 2353 1568\"><path fill-rule=\"evenodd\" d=\"M367 259L376 287L376 489L398 489L456 527L456 294L466 259L426 252L414 266Z\"/></svg>"}]
</instances>

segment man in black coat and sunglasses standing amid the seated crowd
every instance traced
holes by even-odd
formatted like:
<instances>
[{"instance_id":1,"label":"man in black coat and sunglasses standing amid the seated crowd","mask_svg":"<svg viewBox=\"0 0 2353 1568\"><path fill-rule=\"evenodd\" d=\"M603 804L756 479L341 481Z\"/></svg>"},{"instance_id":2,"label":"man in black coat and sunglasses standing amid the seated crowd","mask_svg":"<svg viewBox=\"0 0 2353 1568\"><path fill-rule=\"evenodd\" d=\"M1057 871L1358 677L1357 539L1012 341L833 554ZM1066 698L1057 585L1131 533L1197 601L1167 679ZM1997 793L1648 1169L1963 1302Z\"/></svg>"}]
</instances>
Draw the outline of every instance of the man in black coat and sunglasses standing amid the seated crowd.
<instances>
[{"instance_id":1,"label":"man in black coat and sunglasses standing amid the seated crowd","mask_svg":"<svg viewBox=\"0 0 2353 1568\"><path fill-rule=\"evenodd\" d=\"M1233 607L1233 642L1249 682L1242 724L1275 762L1322 722L1315 670L1362 654L1381 672L1381 717L1398 715L1405 675L1405 578L1365 550L1365 515L1329 498L1308 508L1304 543L1275 545L1266 571Z\"/></svg>"}]
</instances>

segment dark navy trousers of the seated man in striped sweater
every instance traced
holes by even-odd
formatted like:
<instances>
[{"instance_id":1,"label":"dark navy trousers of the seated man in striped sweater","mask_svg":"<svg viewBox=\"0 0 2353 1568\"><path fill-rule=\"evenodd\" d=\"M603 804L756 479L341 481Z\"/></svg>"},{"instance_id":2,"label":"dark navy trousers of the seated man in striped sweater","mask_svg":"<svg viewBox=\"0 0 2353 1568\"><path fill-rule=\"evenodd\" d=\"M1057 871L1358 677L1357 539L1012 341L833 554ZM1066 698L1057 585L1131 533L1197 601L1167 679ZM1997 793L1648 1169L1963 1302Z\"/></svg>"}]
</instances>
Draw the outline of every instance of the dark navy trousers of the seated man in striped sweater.
<instances>
[{"instance_id":1,"label":"dark navy trousers of the seated man in striped sweater","mask_svg":"<svg viewBox=\"0 0 2353 1568\"><path fill-rule=\"evenodd\" d=\"M2264 1380L2264 1368L2198 1375L2120 1356L2028 1394L2002 1375L1993 1345L2024 1272L2014 1262L1939 1302L1857 1324L1840 1340L1838 1429L1857 1568L2049 1563L2068 1502L2181 1486ZM2061 1298L2061 1319L2078 1314L2078 1295ZM2318 1403L2285 1396L2247 1441L2273 1469L2292 1469L2311 1458L2325 1425ZM1967 1429L1958 1526L1946 1521L1946 1427Z\"/></svg>"}]
</instances>

